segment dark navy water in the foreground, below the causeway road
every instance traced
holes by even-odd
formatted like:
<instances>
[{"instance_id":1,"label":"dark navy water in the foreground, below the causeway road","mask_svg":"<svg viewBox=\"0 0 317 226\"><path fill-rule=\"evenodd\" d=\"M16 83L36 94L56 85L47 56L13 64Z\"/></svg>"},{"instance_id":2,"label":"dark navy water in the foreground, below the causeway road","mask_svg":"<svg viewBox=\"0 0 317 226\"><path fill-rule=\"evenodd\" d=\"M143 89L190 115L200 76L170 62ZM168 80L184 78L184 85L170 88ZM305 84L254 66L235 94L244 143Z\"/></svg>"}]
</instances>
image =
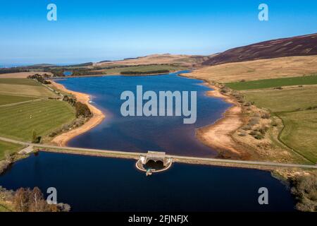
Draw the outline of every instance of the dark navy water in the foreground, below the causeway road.
<instances>
[{"instance_id":1,"label":"dark navy water in the foreground, below the causeway road","mask_svg":"<svg viewBox=\"0 0 317 226\"><path fill-rule=\"evenodd\" d=\"M39 153L0 177L8 189L57 189L73 211L292 211L294 199L270 172L174 164L146 177L134 160ZM268 205L258 190L268 189Z\"/></svg>"}]
</instances>

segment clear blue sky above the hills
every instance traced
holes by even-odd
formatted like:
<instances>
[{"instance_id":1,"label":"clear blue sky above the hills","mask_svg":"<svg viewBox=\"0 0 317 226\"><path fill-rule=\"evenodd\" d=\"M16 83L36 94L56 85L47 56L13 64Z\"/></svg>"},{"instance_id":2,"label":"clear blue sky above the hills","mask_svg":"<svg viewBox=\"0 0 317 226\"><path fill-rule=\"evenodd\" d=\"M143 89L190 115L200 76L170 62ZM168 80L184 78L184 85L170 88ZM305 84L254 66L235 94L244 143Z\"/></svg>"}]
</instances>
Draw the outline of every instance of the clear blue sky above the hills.
<instances>
[{"instance_id":1,"label":"clear blue sky above the hills","mask_svg":"<svg viewBox=\"0 0 317 226\"><path fill-rule=\"evenodd\" d=\"M46 20L46 6L58 20ZM258 6L269 6L267 22ZM317 32L316 0L1 1L1 64L67 64L154 53L212 54Z\"/></svg>"}]
</instances>

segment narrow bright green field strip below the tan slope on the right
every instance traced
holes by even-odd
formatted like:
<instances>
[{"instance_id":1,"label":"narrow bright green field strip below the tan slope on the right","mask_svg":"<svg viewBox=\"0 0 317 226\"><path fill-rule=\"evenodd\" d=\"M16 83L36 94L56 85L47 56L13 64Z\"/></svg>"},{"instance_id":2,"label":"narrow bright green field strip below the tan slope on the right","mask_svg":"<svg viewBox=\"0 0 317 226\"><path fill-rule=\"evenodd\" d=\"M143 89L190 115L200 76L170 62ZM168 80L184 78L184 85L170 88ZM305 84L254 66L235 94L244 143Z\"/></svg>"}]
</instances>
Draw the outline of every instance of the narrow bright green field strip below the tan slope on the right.
<instances>
[{"instance_id":1,"label":"narrow bright green field strip below the tan slope on the right","mask_svg":"<svg viewBox=\"0 0 317 226\"><path fill-rule=\"evenodd\" d=\"M317 76L301 76L292 78L273 78L258 81L245 81L239 83L225 83L232 90L254 90L264 88L276 88L289 85L316 85Z\"/></svg>"}]
</instances>

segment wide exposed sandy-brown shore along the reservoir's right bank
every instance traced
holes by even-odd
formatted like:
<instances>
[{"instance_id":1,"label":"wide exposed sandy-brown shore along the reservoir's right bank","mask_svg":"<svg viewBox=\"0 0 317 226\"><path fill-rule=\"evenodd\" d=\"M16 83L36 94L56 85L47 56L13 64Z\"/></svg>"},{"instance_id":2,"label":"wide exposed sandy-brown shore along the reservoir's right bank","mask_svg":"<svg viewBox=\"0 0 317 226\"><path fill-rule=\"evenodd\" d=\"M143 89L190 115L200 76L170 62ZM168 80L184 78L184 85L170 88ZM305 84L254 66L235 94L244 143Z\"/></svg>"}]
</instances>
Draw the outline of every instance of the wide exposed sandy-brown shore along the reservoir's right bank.
<instances>
[{"instance_id":1,"label":"wide exposed sandy-brown shore along the reservoir's right bank","mask_svg":"<svg viewBox=\"0 0 317 226\"><path fill-rule=\"evenodd\" d=\"M233 106L227 109L223 117L216 121L215 124L198 129L197 138L209 147L218 150L219 157L249 159L249 153L232 139L232 134L243 124L242 108L232 97L220 93L219 88L216 86L209 85L209 83L206 83L206 85L214 89L208 91L207 95L222 98Z\"/></svg>"}]
</instances>

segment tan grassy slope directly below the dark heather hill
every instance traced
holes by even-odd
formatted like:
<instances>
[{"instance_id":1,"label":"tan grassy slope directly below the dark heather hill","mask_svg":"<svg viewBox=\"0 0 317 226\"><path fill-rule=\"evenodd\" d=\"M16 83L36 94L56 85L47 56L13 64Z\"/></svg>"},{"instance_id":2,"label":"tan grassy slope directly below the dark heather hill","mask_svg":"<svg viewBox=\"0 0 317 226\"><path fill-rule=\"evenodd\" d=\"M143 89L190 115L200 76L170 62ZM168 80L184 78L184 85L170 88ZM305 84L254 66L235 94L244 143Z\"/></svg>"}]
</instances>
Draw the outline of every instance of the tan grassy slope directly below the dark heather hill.
<instances>
[{"instance_id":1,"label":"tan grassy slope directly below the dark heather hill","mask_svg":"<svg viewBox=\"0 0 317 226\"><path fill-rule=\"evenodd\" d=\"M206 66L188 76L221 83L256 81L269 78L286 78L317 72L317 56L280 57L239 63Z\"/></svg>"}]
</instances>

